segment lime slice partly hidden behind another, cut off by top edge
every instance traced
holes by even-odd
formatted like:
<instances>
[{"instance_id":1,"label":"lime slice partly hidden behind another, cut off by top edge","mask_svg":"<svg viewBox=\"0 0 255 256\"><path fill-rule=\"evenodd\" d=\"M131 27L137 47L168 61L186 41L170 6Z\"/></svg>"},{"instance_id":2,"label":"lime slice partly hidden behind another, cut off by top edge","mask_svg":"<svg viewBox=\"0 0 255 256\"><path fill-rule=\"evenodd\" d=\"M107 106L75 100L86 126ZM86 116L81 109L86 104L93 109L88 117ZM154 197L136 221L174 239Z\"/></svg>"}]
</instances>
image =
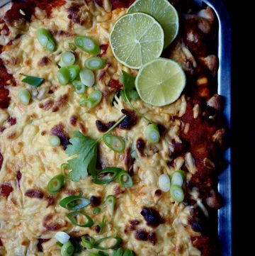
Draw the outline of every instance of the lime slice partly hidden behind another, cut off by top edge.
<instances>
[{"instance_id":1,"label":"lime slice partly hidden behind another, cut off by top edge","mask_svg":"<svg viewBox=\"0 0 255 256\"><path fill-rule=\"evenodd\" d=\"M176 38L179 30L179 16L167 0L137 0L128 9L128 13L142 12L153 16L164 29L164 48Z\"/></svg>"}]
</instances>

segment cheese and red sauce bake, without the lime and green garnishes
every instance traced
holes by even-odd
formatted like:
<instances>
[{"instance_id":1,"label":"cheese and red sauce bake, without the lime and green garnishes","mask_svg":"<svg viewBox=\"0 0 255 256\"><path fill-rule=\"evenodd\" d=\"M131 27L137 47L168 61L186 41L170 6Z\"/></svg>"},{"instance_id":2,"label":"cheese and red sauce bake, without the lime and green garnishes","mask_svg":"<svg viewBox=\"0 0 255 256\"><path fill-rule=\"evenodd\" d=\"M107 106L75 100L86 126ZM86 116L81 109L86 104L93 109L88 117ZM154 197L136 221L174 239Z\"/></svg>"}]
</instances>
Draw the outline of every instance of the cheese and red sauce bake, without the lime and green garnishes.
<instances>
[{"instance_id":1,"label":"cheese and red sauce bake, without the lime and green garnishes","mask_svg":"<svg viewBox=\"0 0 255 256\"><path fill-rule=\"evenodd\" d=\"M120 246L145 256L216 256L217 175L224 161L226 124L223 100L217 95L217 18L210 7L197 9L191 1L171 1L179 11L178 38L164 52L186 71L186 89L177 101L154 107L138 100L135 106L159 125L161 140L148 143L143 131L147 121L137 116L119 96L120 74L137 75L115 60L109 46L113 24L133 1L48 0L18 1L4 9L0 21L0 255L60 255L54 238L64 231L79 242L82 235L96 240L117 234ZM47 28L57 50L44 50L36 39L38 28ZM69 50L76 35L87 35L100 45L106 67L94 72L101 103L89 111L79 105L79 94L68 84L61 86L56 74L62 52ZM90 55L74 50L82 67ZM23 74L44 78L40 87L30 87ZM18 89L30 90L25 106ZM117 94L116 94L117 93ZM113 96L115 100L113 102ZM47 184L70 158L64 152L74 130L99 138L123 113L128 115L114 135L125 138L123 153L98 145L97 168L119 167L132 175L133 186L118 182L94 184L91 176L79 182L66 179L58 194L50 195ZM60 138L52 148L50 135ZM182 169L186 172L185 199L175 202L159 189L159 176ZM66 170L67 172L67 170ZM74 226L60 206L67 196L91 200L86 212L94 226ZM113 215L103 208L108 195L116 197ZM101 212L94 214L100 206ZM98 223L106 216L100 233ZM99 234L98 234L99 232ZM95 250L96 251L96 250ZM107 250L112 255L113 250ZM89 255L82 250L77 255Z\"/></svg>"}]
</instances>

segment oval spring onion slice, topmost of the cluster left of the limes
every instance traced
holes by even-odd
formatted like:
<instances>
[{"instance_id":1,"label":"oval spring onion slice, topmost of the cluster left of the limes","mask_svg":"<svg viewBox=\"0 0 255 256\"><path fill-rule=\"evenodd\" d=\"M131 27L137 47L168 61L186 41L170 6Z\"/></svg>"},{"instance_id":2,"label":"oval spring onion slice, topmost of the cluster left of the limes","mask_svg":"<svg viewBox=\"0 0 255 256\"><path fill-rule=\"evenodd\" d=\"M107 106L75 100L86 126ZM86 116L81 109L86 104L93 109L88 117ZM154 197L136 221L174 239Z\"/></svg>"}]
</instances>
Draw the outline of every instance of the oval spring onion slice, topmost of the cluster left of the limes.
<instances>
[{"instance_id":1,"label":"oval spring onion slice, topmost of the cluster left of the limes","mask_svg":"<svg viewBox=\"0 0 255 256\"><path fill-rule=\"evenodd\" d=\"M93 39L88 36L77 36L74 38L74 43L78 48L84 50L85 52L89 52L92 55L98 55L100 53L100 48L98 43L96 43Z\"/></svg>"}]
</instances>

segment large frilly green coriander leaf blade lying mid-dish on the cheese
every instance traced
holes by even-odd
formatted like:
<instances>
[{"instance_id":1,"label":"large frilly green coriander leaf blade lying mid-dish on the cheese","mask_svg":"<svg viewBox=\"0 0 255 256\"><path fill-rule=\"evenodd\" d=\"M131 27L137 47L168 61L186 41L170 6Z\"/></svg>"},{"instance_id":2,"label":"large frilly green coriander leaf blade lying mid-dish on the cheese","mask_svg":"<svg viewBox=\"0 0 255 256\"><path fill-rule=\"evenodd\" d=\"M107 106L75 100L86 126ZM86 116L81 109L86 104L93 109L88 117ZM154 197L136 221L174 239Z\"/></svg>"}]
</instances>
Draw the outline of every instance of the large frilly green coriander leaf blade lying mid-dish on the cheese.
<instances>
[{"instance_id":1,"label":"large frilly green coriander leaf blade lying mid-dish on the cheese","mask_svg":"<svg viewBox=\"0 0 255 256\"><path fill-rule=\"evenodd\" d=\"M72 170L68 176L73 182L79 182L79 179L85 179L88 175L88 167L91 169L92 175L96 172L96 155L97 140L88 138L78 130L74 132L74 137L69 140L70 145L67 146L65 152L69 156L79 154L78 157L67 161L67 169Z\"/></svg>"}]
</instances>

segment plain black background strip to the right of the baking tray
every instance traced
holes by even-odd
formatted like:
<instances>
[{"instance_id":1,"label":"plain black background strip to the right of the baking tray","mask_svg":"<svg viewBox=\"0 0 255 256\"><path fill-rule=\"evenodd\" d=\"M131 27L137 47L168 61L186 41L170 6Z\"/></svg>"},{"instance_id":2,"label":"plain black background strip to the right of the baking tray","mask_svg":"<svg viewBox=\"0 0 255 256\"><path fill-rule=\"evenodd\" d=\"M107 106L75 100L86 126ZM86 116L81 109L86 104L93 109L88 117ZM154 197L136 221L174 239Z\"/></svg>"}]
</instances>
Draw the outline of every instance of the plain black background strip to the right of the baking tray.
<instances>
[{"instance_id":1,"label":"plain black background strip to the right of the baking tray","mask_svg":"<svg viewBox=\"0 0 255 256\"><path fill-rule=\"evenodd\" d=\"M255 13L251 1L222 1L232 21L233 256L245 256L254 255L255 246L251 242L251 205L255 202L255 44L251 37Z\"/></svg>"}]
</instances>

